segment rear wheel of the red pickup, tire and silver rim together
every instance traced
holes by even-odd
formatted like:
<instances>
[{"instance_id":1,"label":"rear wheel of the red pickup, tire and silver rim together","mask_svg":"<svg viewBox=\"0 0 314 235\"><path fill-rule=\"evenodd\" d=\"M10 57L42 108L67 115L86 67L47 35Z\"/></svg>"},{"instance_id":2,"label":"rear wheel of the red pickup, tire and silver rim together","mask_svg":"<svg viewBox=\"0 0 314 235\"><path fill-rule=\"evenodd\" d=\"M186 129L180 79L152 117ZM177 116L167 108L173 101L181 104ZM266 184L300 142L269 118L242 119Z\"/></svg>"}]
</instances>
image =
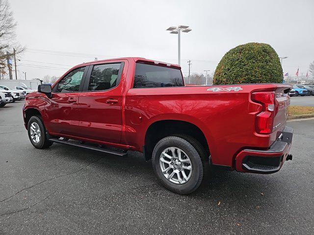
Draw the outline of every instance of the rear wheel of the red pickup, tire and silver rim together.
<instances>
[{"instance_id":1,"label":"rear wheel of the red pickup, tire and silver rim together","mask_svg":"<svg viewBox=\"0 0 314 235\"><path fill-rule=\"evenodd\" d=\"M190 138L169 136L160 140L153 151L153 168L164 187L181 194L195 191L202 183L206 167L203 153L188 141ZM203 151L203 150L202 150Z\"/></svg>"}]
</instances>

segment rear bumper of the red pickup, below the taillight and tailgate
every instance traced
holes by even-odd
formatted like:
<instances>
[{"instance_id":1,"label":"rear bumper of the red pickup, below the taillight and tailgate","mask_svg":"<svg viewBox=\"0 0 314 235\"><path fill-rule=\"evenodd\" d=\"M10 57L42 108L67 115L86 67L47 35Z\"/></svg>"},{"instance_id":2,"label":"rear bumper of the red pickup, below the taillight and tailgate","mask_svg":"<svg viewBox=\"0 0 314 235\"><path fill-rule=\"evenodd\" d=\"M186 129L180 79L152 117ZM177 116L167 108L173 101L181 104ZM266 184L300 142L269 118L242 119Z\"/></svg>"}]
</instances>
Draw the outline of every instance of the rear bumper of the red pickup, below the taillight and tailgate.
<instances>
[{"instance_id":1,"label":"rear bumper of the red pickup, below the taillight and tailgate","mask_svg":"<svg viewBox=\"0 0 314 235\"><path fill-rule=\"evenodd\" d=\"M286 126L282 135L267 150L244 149L235 157L235 169L261 174L275 173L287 159L293 129ZM289 157L290 158L290 157Z\"/></svg>"}]
</instances>

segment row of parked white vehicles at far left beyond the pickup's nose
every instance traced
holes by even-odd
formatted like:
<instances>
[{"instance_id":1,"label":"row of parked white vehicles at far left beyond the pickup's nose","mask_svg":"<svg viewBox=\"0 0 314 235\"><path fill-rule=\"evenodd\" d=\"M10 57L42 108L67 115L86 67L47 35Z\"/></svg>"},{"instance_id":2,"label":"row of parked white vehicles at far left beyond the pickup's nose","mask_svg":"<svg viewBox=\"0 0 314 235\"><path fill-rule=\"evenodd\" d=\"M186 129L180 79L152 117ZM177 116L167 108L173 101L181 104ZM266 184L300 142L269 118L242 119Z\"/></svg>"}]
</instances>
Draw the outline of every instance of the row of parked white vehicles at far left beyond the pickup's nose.
<instances>
[{"instance_id":1,"label":"row of parked white vehicles at far left beyond the pickup's nose","mask_svg":"<svg viewBox=\"0 0 314 235\"><path fill-rule=\"evenodd\" d=\"M8 103L14 103L24 99L26 94L32 93L35 90L29 89L27 87L16 86L14 89L10 89L7 86L0 85L0 108Z\"/></svg>"}]
</instances>

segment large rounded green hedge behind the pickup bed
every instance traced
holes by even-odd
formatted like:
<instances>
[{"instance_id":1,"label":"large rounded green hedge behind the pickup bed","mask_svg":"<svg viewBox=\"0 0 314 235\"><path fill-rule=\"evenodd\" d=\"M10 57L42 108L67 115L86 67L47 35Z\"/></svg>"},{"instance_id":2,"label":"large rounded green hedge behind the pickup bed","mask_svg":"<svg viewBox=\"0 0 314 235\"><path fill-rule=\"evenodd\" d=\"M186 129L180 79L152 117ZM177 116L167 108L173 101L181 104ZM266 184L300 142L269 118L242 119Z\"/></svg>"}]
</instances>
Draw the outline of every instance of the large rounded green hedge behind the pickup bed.
<instances>
[{"instance_id":1,"label":"large rounded green hedge behind the pickup bed","mask_svg":"<svg viewBox=\"0 0 314 235\"><path fill-rule=\"evenodd\" d=\"M214 85L282 82L283 69L278 54L265 43L247 43L229 50L213 78Z\"/></svg>"}]
</instances>

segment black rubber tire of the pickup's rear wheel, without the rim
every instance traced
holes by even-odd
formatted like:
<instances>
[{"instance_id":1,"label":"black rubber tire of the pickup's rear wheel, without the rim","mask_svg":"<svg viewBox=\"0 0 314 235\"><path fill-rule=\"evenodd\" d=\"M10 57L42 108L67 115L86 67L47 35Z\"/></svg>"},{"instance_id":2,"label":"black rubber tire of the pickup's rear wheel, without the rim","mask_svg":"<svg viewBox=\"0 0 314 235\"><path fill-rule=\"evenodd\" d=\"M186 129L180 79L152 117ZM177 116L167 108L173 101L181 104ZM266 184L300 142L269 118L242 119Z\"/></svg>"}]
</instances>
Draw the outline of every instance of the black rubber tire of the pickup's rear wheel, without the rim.
<instances>
[{"instance_id":1,"label":"black rubber tire of the pickup's rear wheel, without the rim","mask_svg":"<svg viewBox=\"0 0 314 235\"><path fill-rule=\"evenodd\" d=\"M159 166L159 157L162 151L169 147L180 148L190 159L192 173L189 180L183 184L175 184L169 181L163 175ZM208 171L208 165L205 163L206 161L204 161L205 156L206 152L204 151L204 148L193 138L185 135L169 136L157 142L153 151L152 164L157 178L165 188L177 193L189 194L199 188L204 178L204 174Z\"/></svg>"}]
</instances>

